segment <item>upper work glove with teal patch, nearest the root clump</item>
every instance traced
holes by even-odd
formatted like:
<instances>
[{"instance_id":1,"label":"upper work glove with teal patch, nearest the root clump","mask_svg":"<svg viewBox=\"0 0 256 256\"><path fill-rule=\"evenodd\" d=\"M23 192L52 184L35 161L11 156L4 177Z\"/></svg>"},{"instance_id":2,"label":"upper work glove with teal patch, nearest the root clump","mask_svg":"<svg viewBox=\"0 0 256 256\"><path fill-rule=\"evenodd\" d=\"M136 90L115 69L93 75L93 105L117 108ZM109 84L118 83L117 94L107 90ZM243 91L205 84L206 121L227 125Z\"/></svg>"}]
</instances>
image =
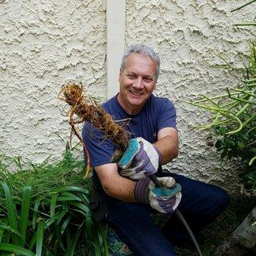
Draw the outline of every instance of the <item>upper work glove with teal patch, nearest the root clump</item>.
<instances>
[{"instance_id":1,"label":"upper work glove with teal patch, nearest the root clump","mask_svg":"<svg viewBox=\"0 0 256 256\"><path fill-rule=\"evenodd\" d=\"M118 166L122 169L120 175L130 179L143 179L155 174L161 162L159 150L143 138L129 141Z\"/></svg>"}]
</instances>

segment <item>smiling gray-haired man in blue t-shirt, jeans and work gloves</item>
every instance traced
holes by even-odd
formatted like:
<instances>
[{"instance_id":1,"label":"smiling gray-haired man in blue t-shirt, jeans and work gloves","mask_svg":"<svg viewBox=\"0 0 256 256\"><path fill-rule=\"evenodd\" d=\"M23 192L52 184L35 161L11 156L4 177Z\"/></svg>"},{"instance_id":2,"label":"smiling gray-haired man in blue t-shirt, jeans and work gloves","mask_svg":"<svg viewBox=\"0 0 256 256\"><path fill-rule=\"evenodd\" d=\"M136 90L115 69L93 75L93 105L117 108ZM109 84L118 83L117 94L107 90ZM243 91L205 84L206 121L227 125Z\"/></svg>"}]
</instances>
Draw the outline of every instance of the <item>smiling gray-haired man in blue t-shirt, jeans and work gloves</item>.
<instances>
[{"instance_id":1,"label":"smiling gray-haired man in blue t-shirt, jeans and work gloves","mask_svg":"<svg viewBox=\"0 0 256 256\"><path fill-rule=\"evenodd\" d=\"M103 104L115 120L129 120L126 128L131 140L118 163L110 163L115 146L101 132L86 122L82 135L107 202L107 222L134 255L177 255L174 241L188 240L175 214L163 230L156 227L151 217L154 210L174 213L179 205L197 233L229 202L227 193L215 185L162 171L161 165L177 157L178 134L174 105L152 94L159 71L159 57L147 46L132 46L124 54L120 91ZM164 188L155 188L149 179L152 174Z\"/></svg>"}]
</instances>

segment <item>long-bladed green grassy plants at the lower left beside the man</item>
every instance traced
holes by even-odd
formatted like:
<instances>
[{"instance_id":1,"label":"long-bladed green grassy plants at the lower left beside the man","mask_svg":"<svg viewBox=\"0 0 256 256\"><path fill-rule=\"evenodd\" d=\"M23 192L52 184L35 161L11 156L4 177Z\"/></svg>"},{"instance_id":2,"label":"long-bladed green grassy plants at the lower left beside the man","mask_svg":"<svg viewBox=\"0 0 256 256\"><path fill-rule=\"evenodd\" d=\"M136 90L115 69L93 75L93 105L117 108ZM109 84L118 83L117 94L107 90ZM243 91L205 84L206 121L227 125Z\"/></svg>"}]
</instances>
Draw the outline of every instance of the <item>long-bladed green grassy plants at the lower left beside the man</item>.
<instances>
[{"instance_id":1,"label":"long-bladed green grassy plants at the lower left beside the man","mask_svg":"<svg viewBox=\"0 0 256 256\"><path fill-rule=\"evenodd\" d=\"M90 181L82 180L83 160L67 150L60 162L47 161L25 168L20 158L1 156L0 254L108 255L106 230L90 210ZM18 163L15 174L11 163Z\"/></svg>"}]
</instances>

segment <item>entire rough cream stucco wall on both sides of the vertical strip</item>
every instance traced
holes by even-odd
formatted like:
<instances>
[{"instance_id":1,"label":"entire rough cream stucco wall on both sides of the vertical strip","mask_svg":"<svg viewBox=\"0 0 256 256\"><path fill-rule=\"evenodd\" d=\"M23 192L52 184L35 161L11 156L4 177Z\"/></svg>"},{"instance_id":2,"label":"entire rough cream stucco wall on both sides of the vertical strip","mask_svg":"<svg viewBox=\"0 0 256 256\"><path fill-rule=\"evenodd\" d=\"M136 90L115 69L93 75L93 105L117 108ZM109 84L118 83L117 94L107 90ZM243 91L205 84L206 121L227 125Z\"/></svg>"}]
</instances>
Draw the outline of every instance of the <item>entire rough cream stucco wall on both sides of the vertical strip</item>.
<instances>
[{"instance_id":1,"label":"entire rough cream stucco wall on both sides of the vertical strip","mask_svg":"<svg viewBox=\"0 0 256 256\"><path fill-rule=\"evenodd\" d=\"M182 102L200 93L218 93L238 84L238 74L213 69L213 50L242 65L246 39L255 30L235 27L252 21L255 5L230 13L238 0L127 0L126 46L146 43L162 60L156 94L177 107L180 139L174 171L206 181L231 183L232 172L218 166L214 149L192 124L207 115ZM69 127L57 92L64 82L82 81L103 101L106 88L105 1L4 1L0 4L0 149L24 160L60 157Z\"/></svg>"}]
</instances>

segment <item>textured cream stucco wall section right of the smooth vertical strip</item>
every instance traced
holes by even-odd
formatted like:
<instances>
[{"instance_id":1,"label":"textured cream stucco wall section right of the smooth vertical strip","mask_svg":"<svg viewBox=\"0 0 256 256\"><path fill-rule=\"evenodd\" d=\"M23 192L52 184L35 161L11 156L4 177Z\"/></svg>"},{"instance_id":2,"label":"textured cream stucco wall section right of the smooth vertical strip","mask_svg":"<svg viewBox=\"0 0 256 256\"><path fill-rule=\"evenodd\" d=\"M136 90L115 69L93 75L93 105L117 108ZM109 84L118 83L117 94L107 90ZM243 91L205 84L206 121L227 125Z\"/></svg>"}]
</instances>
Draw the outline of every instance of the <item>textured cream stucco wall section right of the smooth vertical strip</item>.
<instances>
[{"instance_id":1,"label":"textured cream stucco wall section right of the smooth vertical strip","mask_svg":"<svg viewBox=\"0 0 256 256\"><path fill-rule=\"evenodd\" d=\"M208 115L182 99L216 94L227 86L238 85L238 74L211 68L207 62L221 63L212 54L216 51L230 63L243 65L248 52L246 39L255 37L255 29L234 24L252 21L256 4L230 13L241 3L127 0L126 44L146 43L159 52L162 66L156 94L171 99L177 107L180 152L168 168L207 182L224 182L228 188L234 185L237 175L213 170L219 161L214 157L214 148L207 146L207 133L191 128L206 121Z\"/></svg>"}]
</instances>

